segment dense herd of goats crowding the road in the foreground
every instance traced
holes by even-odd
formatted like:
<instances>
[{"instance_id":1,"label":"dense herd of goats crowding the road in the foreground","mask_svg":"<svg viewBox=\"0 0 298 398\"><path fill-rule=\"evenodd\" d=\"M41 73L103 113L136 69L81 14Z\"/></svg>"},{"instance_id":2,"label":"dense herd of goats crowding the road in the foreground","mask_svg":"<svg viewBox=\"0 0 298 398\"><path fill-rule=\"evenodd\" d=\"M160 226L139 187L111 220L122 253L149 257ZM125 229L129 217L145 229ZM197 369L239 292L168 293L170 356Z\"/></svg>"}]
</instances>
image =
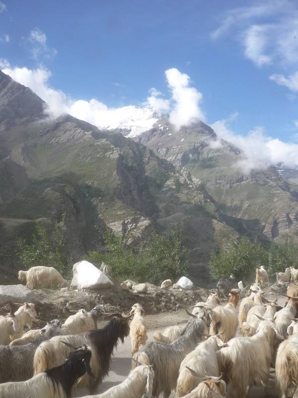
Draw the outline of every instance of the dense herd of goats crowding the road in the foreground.
<instances>
[{"instance_id":1,"label":"dense herd of goats crowding the road in the foreground","mask_svg":"<svg viewBox=\"0 0 298 398\"><path fill-rule=\"evenodd\" d=\"M147 343L142 305L129 314L107 313L100 305L80 309L63 324L51 320L42 329L23 333L37 321L34 304L0 316L0 397L69 398L77 388L95 394L109 372L119 340L132 341L132 370L127 379L89 398L220 398L247 397L252 385L267 386L275 368L280 397L295 397L298 388L298 272L277 274L289 283L287 302L279 307L269 289L264 267L256 270L256 283L239 304L240 290L229 292L222 304L220 293L197 302L183 326L170 326ZM292 283L290 279L292 278ZM110 319L97 328L100 317ZM130 324L129 321L131 320ZM297 389L298 391L298 389ZM298 394L298 393L296 393Z\"/></svg>"}]
</instances>

